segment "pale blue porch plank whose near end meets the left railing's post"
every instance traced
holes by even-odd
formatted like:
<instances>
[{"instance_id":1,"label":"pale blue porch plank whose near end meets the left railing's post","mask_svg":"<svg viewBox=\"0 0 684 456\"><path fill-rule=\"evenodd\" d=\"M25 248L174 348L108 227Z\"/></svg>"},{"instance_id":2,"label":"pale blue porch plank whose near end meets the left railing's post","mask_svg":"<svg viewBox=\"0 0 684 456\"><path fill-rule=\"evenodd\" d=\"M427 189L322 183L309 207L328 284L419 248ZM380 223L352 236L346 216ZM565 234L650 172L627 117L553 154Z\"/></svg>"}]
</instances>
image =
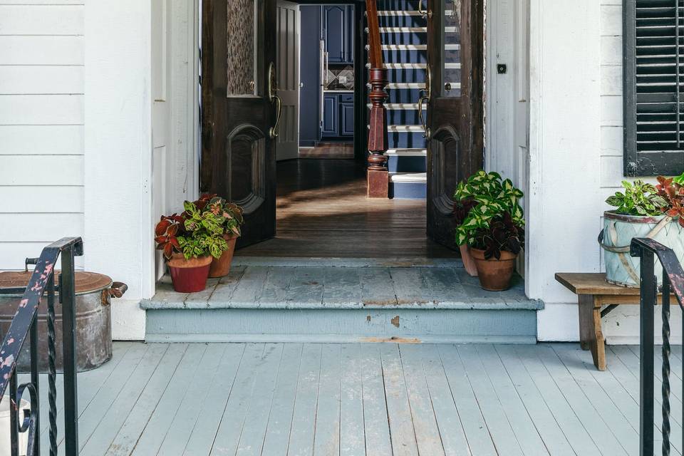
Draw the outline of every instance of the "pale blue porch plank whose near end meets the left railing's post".
<instances>
[{"instance_id":1,"label":"pale blue porch plank whose near end meets the left railing's post","mask_svg":"<svg viewBox=\"0 0 684 456\"><path fill-rule=\"evenodd\" d=\"M102 413L97 423L86 422L84 426L79 425L79 447L83 455L103 455L109 448L110 443L118 434L121 426L125 423L130 411L135 407L142 391L145 390L147 382L150 380L164 355L168 346L153 344L148 346L145 356L143 356L135 371L123 385L122 393L116 395L110 407L100 410ZM90 435L88 427L95 426ZM85 427L85 429L84 429Z\"/></svg>"}]
</instances>

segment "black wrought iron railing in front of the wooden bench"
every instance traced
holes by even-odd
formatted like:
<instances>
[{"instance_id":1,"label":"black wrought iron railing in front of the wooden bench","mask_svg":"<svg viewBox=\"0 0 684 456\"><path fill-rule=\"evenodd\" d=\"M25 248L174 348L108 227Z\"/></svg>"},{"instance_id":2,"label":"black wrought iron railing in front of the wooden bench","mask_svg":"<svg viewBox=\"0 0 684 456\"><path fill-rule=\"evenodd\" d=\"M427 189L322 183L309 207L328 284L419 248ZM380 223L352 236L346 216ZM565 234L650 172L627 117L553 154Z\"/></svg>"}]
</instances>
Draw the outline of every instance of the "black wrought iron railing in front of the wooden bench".
<instances>
[{"instance_id":1,"label":"black wrought iron railing in front of the wooden bench","mask_svg":"<svg viewBox=\"0 0 684 456\"><path fill-rule=\"evenodd\" d=\"M632 257L641 257L641 343L639 348L641 358L639 374L641 379L639 391L639 403L641 405L639 417L640 454L641 456L653 456L655 454L655 449L653 448L655 313L653 308L658 304L658 294L660 293L660 302L663 304L661 306L663 316L661 328L663 336L662 388L660 388L661 413L663 415L660 427L663 437L661 454L670 455L670 295L674 295L680 308L684 309L684 270L675 252L653 239L632 239L630 254ZM660 287L658 286L658 278L654 274L655 257L658 257L658 261L663 266L663 282ZM684 419L684 412L682 418ZM684 448L684 441L682 443Z\"/></svg>"}]
</instances>

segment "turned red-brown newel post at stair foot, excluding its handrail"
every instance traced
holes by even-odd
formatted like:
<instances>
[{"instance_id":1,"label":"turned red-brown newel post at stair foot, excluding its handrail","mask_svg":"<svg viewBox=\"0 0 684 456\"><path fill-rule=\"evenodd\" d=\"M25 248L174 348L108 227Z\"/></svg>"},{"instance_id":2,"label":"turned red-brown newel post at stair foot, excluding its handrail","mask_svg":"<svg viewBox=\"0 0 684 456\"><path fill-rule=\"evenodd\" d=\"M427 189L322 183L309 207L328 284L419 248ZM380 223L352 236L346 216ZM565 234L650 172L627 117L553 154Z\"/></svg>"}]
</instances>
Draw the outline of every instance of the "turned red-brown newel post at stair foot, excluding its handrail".
<instances>
[{"instance_id":1,"label":"turned red-brown newel post at stair foot, excluding its handrail","mask_svg":"<svg viewBox=\"0 0 684 456\"><path fill-rule=\"evenodd\" d=\"M385 92L387 68L371 68L371 117L368 130L368 197L388 197L389 177L387 170L387 108Z\"/></svg>"}]
</instances>

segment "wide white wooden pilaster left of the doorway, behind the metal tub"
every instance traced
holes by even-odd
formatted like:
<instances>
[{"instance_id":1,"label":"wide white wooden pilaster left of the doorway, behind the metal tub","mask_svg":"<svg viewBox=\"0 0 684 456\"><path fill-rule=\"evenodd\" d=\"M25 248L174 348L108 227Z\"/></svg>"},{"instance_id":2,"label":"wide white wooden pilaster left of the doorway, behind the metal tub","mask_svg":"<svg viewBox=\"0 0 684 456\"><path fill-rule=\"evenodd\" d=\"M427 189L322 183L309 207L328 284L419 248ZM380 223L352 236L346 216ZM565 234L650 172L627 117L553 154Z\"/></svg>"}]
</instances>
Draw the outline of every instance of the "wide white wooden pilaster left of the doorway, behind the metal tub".
<instances>
[{"instance_id":1,"label":"wide white wooden pilaster left of the doorway, behind the metal tub","mask_svg":"<svg viewBox=\"0 0 684 456\"><path fill-rule=\"evenodd\" d=\"M124 281L115 339L142 339L154 293L150 0L86 0L85 266Z\"/></svg>"}]
</instances>

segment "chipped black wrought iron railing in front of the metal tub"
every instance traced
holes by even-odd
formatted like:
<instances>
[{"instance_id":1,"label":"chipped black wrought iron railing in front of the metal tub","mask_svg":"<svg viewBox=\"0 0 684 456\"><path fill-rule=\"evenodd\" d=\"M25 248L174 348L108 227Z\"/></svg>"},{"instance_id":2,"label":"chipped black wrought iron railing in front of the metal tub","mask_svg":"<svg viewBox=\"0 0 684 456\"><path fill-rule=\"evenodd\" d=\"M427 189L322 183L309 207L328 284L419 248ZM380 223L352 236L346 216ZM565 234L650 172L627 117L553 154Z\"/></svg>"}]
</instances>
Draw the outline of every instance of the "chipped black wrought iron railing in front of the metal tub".
<instances>
[{"instance_id":1,"label":"chipped black wrought iron railing in front of the metal tub","mask_svg":"<svg viewBox=\"0 0 684 456\"><path fill-rule=\"evenodd\" d=\"M57 455L57 388L55 338L55 266L61 256L61 273L58 275L59 301L62 304L62 350L64 363L64 453L78 455L78 403L76 385L76 287L74 257L83 255L80 237L64 238L43 249L41 256L27 259L35 264L26 288L0 289L0 294L23 293L19 307L12 318L9 331L0 348L0 400L9 386L11 454L18 456L19 434L27 432L26 455L40 455L40 402L38 398L38 305L47 295L48 323L48 420L50 456ZM19 385L17 366L21 348L30 340L31 380ZM24 393L28 392L30 411L19 410ZM21 420L20 420L21 415Z\"/></svg>"}]
</instances>

